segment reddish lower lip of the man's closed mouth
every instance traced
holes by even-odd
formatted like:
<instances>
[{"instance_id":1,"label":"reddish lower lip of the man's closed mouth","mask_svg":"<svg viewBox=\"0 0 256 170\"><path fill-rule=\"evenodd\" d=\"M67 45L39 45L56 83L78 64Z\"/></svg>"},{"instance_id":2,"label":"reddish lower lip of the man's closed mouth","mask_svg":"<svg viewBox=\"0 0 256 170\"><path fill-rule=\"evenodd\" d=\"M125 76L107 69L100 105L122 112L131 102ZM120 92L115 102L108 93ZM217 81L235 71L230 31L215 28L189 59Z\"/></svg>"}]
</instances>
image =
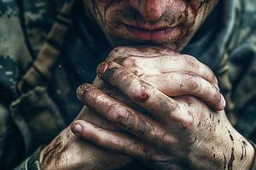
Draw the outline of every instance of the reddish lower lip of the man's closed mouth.
<instances>
[{"instance_id":1,"label":"reddish lower lip of the man's closed mouth","mask_svg":"<svg viewBox=\"0 0 256 170\"><path fill-rule=\"evenodd\" d=\"M131 32L131 34L141 40L146 40L146 41L164 41L166 40L170 34L172 34L173 30L175 27L172 28L166 28L163 30L153 30L153 31L148 31L142 28L138 28L135 26L127 26L125 27L128 29L128 31Z\"/></svg>"}]
</instances>

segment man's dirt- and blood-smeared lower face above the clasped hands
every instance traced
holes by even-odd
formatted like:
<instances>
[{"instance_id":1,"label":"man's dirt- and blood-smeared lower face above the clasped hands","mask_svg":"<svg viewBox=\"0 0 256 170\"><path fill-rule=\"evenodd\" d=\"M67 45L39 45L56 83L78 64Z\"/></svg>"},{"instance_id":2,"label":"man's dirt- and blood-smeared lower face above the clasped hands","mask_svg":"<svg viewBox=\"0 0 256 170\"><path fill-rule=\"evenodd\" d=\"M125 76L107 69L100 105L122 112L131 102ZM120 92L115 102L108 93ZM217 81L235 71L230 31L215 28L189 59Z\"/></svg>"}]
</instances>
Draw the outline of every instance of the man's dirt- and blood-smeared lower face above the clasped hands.
<instances>
[{"instance_id":1,"label":"man's dirt- and blood-smeared lower face above the clasped hands","mask_svg":"<svg viewBox=\"0 0 256 170\"><path fill-rule=\"evenodd\" d=\"M84 0L113 46L163 45L181 50L218 0Z\"/></svg>"}]
</instances>

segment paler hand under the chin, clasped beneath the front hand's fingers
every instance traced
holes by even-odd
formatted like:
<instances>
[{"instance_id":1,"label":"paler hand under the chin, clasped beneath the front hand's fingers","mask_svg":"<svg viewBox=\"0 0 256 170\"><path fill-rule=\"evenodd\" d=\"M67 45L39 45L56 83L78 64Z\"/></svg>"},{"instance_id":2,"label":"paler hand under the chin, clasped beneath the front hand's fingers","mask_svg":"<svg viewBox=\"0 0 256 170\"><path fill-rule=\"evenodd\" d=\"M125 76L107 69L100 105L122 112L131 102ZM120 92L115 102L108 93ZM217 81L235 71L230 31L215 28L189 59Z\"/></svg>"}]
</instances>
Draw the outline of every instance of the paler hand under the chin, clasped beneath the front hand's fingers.
<instances>
[{"instance_id":1,"label":"paler hand under the chin, clasped beneath the front hand's fingers","mask_svg":"<svg viewBox=\"0 0 256 170\"><path fill-rule=\"evenodd\" d=\"M203 100L213 110L224 108L224 98L219 93L216 77L207 65L192 56L177 54L170 48L119 47L113 49L107 60L124 66L168 96L189 94ZM131 99L108 83L102 82L100 78L96 77L93 85L113 99L140 110ZM86 105L78 119L84 119L102 128L119 128Z\"/></svg>"}]
</instances>

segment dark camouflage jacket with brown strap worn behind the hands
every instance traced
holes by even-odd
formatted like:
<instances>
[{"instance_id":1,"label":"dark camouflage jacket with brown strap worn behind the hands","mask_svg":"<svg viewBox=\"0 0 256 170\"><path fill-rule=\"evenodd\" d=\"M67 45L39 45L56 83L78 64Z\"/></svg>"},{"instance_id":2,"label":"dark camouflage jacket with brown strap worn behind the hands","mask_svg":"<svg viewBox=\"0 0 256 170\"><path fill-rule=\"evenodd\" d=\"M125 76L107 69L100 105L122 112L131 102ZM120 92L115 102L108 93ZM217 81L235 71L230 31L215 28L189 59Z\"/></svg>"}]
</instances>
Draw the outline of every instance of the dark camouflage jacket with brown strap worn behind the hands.
<instances>
[{"instance_id":1,"label":"dark camouflage jacket with brown strap worn behind the hands","mask_svg":"<svg viewBox=\"0 0 256 170\"><path fill-rule=\"evenodd\" d=\"M17 169L29 169L27 162L37 156L26 157L48 144L79 113L76 88L93 81L96 65L111 50L104 36L82 19L82 9L73 5L78 10L69 18L61 15L61 9L70 12L63 4L65 0L0 0L1 169L22 161ZM227 100L230 122L254 142L255 27L254 0L220 1L183 50L212 68ZM32 167L38 168L37 163Z\"/></svg>"}]
</instances>

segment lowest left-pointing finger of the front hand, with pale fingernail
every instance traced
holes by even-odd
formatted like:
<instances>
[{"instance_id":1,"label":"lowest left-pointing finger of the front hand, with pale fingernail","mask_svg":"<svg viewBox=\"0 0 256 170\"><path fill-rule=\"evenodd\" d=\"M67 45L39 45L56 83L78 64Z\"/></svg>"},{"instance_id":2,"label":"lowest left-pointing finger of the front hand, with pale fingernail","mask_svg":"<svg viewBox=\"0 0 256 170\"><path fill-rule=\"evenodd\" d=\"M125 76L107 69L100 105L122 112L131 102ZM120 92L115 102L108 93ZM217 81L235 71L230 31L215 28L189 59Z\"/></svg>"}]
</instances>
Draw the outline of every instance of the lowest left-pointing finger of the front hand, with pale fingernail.
<instances>
[{"instance_id":1,"label":"lowest left-pointing finger of the front hand, with pale fingernail","mask_svg":"<svg viewBox=\"0 0 256 170\"><path fill-rule=\"evenodd\" d=\"M132 139L124 133L96 127L90 122L80 120L73 122L71 130L93 144L128 156L145 159L154 153L154 150L149 149L139 140Z\"/></svg>"}]
</instances>

